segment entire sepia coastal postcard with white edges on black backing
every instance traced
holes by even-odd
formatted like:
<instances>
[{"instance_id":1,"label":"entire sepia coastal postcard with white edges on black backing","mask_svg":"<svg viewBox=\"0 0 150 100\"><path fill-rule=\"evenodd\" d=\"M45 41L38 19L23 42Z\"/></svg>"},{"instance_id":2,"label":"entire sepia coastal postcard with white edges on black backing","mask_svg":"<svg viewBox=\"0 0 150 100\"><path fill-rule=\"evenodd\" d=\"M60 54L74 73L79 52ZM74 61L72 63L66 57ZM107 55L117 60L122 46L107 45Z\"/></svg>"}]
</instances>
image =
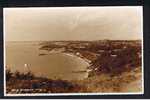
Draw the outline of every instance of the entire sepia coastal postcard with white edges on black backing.
<instances>
[{"instance_id":1,"label":"entire sepia coastal postcard with white edges on black backing","mask_svg":"<svg viewBox=\"0 0 150 100\"><path fill-rule=\"evenodd\" d=\"M3 9L4 95L143 94L142 6Z\"/></svg>"}]
</instances>

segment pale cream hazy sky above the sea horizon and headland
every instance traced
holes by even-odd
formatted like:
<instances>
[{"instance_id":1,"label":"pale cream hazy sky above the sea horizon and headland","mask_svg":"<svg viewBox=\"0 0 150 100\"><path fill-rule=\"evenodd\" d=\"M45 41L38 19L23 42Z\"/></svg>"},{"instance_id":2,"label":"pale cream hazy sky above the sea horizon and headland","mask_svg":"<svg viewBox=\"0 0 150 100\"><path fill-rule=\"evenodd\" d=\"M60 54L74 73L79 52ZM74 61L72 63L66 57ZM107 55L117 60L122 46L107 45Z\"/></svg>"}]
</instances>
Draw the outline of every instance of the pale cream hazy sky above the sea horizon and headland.
<instances>
[{"instance_id":1,"label":"pale cream hazy sky above the sea horizon and headland","mask_svg":"<svg viewBox=\"0 0 150 100\"><path fill-rule=\"evenodd\" d=\"M141 39L142 6L4 9L6 41Z\"/></svg>"}]
</instances>

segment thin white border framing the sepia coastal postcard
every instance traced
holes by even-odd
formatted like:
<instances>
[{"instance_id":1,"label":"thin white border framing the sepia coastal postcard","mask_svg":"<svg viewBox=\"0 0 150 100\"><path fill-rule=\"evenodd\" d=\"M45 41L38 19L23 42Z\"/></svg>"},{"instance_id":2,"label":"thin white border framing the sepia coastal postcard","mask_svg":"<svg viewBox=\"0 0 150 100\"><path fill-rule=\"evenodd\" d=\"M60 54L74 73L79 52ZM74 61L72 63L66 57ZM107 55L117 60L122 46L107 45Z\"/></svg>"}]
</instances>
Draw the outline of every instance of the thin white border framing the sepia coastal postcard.
<instances>
[{"instance_id":1,"label":"thin white border framing the sepia coastal postcard","mask_svg":"<svg viewBox=\"0 0 150 100\"><path fill-rule=\"evenodd\" d=\"M86 6L85 6L86 7ZM92 7L102 7L102 6L92 6ZM103 7L106 7L106 6L103 6ZM107 7L111 7L111 6L107 6ZM132 6L113 6L113 7L132 7ZM28 94L7 94L6 93L6 68L5 68L5 64L6 64L6 52L5 52L5 8L3 8L3 31L4 31L4 34L3 34L3 39L4 39L4 45L3 45L3 48L4 48L4 96L69 96L69 95L74 95L74 96L77 96L77 95L134 95L134 94L139 94L139 95L142 95L144 94L144 53L143 53L143 6L133 6L133 7L141 7L142 9L142 16L141 16L141 30L142 30L142 91L141 92L123 92L123 93L34 93L34 94L31 94L31 93L28 93ZM31 7L30 7L31 8ZM36 7L34 7L36 8ZM39 7L38 7L39 8ZM42 8L42 7L41 7ZM47 7L48 8L48 7ZM54 8L54 7L52 7ZM74 7L76 8L76 7Z\"/></svg>"}]
</instances>

